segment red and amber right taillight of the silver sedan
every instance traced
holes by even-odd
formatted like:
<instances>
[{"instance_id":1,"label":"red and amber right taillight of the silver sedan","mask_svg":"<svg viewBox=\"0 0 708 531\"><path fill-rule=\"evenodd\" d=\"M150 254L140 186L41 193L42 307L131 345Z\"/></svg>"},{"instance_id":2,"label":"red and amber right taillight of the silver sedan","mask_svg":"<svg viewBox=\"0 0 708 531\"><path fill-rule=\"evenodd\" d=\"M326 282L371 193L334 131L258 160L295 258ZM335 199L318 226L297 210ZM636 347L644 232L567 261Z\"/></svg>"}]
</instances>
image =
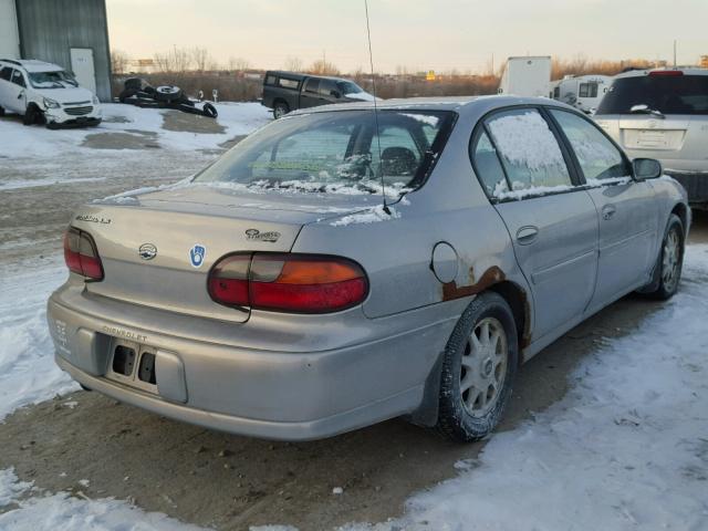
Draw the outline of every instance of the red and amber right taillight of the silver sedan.
<instances>
[{"instance_id":1,"label":"red and amber right taillight of the silver sedan","mask_svg":"<svg viewBox=\"0 0 708 531\"><path fill-rule=\"evenodd\" d=\"M313 254L231 254L209 273L211 299L230 306L327 313L366 299L368 281L347 259Z\"/></svg>"}]
</instances>

